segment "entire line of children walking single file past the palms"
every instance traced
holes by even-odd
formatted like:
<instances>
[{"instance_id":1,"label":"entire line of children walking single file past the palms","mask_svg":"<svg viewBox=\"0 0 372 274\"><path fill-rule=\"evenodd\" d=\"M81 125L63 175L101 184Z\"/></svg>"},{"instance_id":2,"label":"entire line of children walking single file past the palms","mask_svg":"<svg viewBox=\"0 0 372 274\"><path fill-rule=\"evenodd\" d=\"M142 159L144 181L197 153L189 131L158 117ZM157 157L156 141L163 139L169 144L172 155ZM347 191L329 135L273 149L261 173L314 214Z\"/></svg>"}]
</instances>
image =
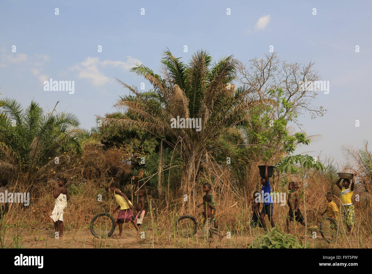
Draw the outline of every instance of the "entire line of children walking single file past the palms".
<instances>
[{"instance_id":1,"label":"entire line of children walking single file past the palms","mask_svg":"<svg viewBox=\"0 0 372 274\"><path fill-rule=\"evenodd\" d=\"M251 227L262 227L265 231L267 231L266 221L265 221L265 215L267 215L268 220L270 222L271 227L275 227L275 222L273 218L273 212L274 212L274 204L271 198L271 186L270 182L267 176L267 167L269 165L266 165L265 168L265 174L263 177L261 177L261 184L262 189L261 193L258 191L255 191L253 193L253 198L251 198L252 201L252 211L253 215L251 218L250 226ZM343 216L346 221L347 230L350 232L352 230L353 225L356 224L356 218L355 218L355 212L354 212L354 205L351 201L353 191L354 191L354 183L355 183L355 176L356 173L353 174L352 183L350 186L350 180L349 179L343 179L342 186L340 185L340 182L342 179L337 180L336 185L341 190L341 201L343 204ZM0 190L6 185L5 181L1 181ZM66 188L66 179L61 178L58 180L58 186L60 187L56 191L56 186L53 187L53 197L55 198L55 207L52 211L51 218L54 222L54 228L55 231L58 231L59 228L59 237L63 237L63 214L64 210L67 207L67 201L70 199L67 188ZM350 186L350 187L349 187ZM216 206L214 202L214 197L211 193L212 187L209 183L205 183L203 185L203 192L205 192L205 195L203 196L203 202L201 204L198 204L197 207L201 207L203 205L203 212L201 216L201 225L203 227L203 231L209 236L212 236L212 232L217 233L218 235L218 229L217 229L217 223L215 219L216 214ZM297 221L303 226L305 226L305 219L301 214L301 211L299 210L300 200L298 195L298 185L296 185L294 182L288 183L288 190L289 195L287 199L287 204L289 207L289 211L286 217L286 227L287 232L291 233L291 229L289 226L289 222L291 221ZM145 205L145 195L146 191L144 189L138 190L138 203L136 206L137 215L134 218L133 215L133 208L131 201L129 201L128 197L122 193L118 188L118 183L113 182L110 184L109 191L114 193L116 202L118 203L118 207L115 209L114 213L119 210L119 214L116 220L116 223L119 226L119 234L118 237L122 236L122 230L123 230L123 224L131 222L134 226L134 228L137 230L137 232L140 232L140 227L142 224L142 221L144 219L145 211L144 211L144 205ZM260 212L260 196L263 194L263 197L265 197L263 200L263 207ZM335 202L333 202L333 195L331 192L327 192L325 195L327 199L327 205L326 210L322 213L327 213L327 216L330 218L331 222L336 225L336 221L339 217L338 208ZM137 235L137 237L139 234Z\"/></svg>"}]
</instances>

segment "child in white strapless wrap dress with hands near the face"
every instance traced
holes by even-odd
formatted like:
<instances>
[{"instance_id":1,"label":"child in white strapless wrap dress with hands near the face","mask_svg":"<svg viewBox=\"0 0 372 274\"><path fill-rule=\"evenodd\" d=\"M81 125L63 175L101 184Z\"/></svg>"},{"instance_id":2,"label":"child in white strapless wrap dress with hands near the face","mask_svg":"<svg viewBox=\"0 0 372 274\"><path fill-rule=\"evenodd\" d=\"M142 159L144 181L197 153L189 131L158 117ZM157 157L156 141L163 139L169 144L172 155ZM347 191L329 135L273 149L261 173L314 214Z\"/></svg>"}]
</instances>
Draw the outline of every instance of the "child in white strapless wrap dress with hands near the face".
<instances>
[{"instance_id":1,"label":"child in white strapless wrap dress with hands near the face","mask_svg":"<svg viewBox=\"0 0 372 274\"><path fill-rule=\"evenodd\" d=\"M55 232L58 232L58 227L60 229L60 233L58 235L58 238L60 239L63 238L63 214L67 207L67 200L70 199L70 196L67 192L66 183L67 180L65 178L60 178L58 180L58 186L60 188L57 190L57 192L55 192L57 187L55 185L53 186L53 198L55 199L55 205L50 217L54 222Z\"/></svg>"}]
</instances>

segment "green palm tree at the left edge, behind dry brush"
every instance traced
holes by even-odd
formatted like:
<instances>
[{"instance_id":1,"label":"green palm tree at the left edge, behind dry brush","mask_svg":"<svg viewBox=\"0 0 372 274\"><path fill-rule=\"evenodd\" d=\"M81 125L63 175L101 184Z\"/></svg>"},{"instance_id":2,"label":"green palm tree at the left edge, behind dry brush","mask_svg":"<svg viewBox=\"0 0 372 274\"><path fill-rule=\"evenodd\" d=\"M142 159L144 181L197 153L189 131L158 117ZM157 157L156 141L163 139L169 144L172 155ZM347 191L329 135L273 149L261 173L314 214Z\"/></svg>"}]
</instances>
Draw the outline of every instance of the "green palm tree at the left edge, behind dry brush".
<instances>
[{"instance_id":1,"label":"green palm tree at the left edge, behind dry brush","mask_svg":"<svg viewBox=\"0 0 372 274\"><path fill-rule=\"evenodd\" d=\"M55 157L82 149L77 117L57 113L55 107L44 113L35 101L23 109L14 99L0 100L0 167L19 173L30 190L35 177L54 164Z\"/></svg>"}]
</instances>

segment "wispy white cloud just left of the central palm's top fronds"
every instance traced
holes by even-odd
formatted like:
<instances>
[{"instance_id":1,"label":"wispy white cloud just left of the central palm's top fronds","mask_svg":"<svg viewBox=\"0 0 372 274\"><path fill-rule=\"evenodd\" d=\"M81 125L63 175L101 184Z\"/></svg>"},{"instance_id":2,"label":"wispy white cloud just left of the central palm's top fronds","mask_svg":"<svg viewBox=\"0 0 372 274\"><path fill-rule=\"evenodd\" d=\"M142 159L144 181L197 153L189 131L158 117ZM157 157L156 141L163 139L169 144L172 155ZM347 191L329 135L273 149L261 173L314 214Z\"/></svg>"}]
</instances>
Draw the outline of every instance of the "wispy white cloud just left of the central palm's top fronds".
<instances>
[{"instance_id":1,"label":"wispy white cloud just left of the central palm's top fronds","mask_svg":"<svg viewBox=\"0 0 372 274\"><path fill-rule=\"evenodd\" d=\"M92 81L93 85L104 85L110 81L110 78L105 76L102 72L103 67L119 67L122 70L128 70L134 66L135 63L141 63L140 60L127 56L127 61L112 61L103 60L100 61L98 57L88 57L85 61L76 64L71 67L73 70L77 70L79 78L86 78Z\"/></svg>"}]
</instances>

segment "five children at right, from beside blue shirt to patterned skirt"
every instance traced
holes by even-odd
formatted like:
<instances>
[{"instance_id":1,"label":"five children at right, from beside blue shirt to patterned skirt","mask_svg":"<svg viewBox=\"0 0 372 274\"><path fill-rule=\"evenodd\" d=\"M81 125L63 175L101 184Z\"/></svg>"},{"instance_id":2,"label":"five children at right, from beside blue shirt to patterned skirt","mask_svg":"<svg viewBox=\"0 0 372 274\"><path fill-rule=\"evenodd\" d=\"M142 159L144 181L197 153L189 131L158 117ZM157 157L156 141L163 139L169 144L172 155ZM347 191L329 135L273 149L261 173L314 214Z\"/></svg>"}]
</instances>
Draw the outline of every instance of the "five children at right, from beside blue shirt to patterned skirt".
<instances>
[{"instance_id":1,"label":"five children at right, from beside blue shirt to patterned skirt","mask_svg":"<svg viewBox=\"0 0 372 274\"><path fill-rule=\"evenodd\" d=\"M264 205L262 208L261 213L259 213L259 208L260 208L260 196L262 194L258 191L255 191L253 193L253 198L251 198L252 201L252 218L251 218L251 227L262 227L265 231L267 231L266 227L266 222L265 222L265 215L267 215L271 227L275 227L274 219L273 219L273 201L271 198L271 186L269 183L269 179L267 177L267 167L269 165L266 165L265 167L265 174L264 177L261 177L261 184L262 184L262 189L261 193L263 194L263 197L267 197L267 199L264 199ZM341 202L343 205L343 217L345 219L345 223L347 226L348 232L352 230L352 227L356 224L356 218L355 218L355 212L354 212L354 205L352 203L352 195L354 192L354 183L355 183L355 176L356 173L353 174L353 179L350 185L350 180L349 179L339 179L336 182L336 186L341 190ZM341 180L342 186L340 185ZM299 200L299 195L298 195L298 185L294 182L289 182L288 183L288 199L287 199L287 204L289 207L288 214L286 216L286 227L287 227L287 232L291 233L291 229L289 226L290 221L297 221L298 223L302 224L305 226L305 219L301 214L301 211L299 210L299 205L300 205L300 200ZM333 223L334 227L336 228L336 221L338 220L339 217L339 211L337 208L337 205L335 202L333 202L333 195L331 192L327 192L325 195L327 199L327 205L326 205L326 210L321 214L324 215L324 213L327 213L327 217L330 218L331 223Z\"/></svg>"}]
</instances>

